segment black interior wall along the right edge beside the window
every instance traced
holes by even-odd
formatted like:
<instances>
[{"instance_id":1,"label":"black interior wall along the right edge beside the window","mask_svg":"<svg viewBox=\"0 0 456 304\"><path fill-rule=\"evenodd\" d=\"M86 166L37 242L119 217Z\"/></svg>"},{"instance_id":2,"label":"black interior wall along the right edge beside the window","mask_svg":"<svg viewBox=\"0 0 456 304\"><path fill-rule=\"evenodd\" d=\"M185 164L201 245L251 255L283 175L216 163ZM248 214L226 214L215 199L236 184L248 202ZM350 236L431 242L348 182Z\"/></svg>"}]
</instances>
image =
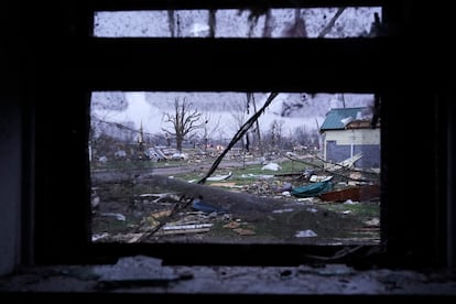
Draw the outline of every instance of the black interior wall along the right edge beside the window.
<instances>
[{"instance_id":1,"label":"black interior wall along the right edge beside the window","mask_svg":"<svg viewBox=\"0 0 456 304\"><path fill-rule=\"evenodd\" d=\"M417 259L450 265L455 261L454 167L448 165L455 141L450 43L455 26L445 4L403 1L402 8L398 19L402 59L395 61L392 72L398 73L398 83L384 95L394 102L382 105L387 113L382 131L390 138L382 146L390 164L386 199L393 202L383 210L386 231L391 250L404 257L398 263L413 264Z\"/></svg>"}]
</instances>

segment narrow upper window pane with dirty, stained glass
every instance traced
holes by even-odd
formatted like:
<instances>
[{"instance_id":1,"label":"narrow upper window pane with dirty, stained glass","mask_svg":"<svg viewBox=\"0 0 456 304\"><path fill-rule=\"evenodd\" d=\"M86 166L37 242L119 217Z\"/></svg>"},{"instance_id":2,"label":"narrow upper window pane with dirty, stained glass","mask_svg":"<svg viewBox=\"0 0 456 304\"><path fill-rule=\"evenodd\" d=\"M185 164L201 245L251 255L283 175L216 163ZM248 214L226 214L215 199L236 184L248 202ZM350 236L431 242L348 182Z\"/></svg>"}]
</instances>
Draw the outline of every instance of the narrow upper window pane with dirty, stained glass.
<instances>
[{"instance_id":1,"label":"narrow upper window pane with dirty, stained glass","mask_svg":"<svg viewBox=\"0 0 456 304\"><path fill-rule=\"evenodd\" d=\"M97 11L96 37L373 37L380 7Z\"/></svg>"}]
</instances>

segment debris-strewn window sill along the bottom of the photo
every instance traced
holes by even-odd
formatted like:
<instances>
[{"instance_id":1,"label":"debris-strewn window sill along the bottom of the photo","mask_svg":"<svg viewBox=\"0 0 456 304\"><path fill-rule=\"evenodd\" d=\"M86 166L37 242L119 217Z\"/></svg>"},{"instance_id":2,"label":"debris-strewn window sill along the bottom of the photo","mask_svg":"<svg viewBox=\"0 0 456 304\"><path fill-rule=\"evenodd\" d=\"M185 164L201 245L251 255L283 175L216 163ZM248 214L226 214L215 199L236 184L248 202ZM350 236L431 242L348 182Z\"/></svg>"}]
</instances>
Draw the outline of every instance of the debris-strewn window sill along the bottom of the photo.
<instances>
[{"instance_id":1,"label":"debris-strewn window sill along the bottom of the photo","mask_svg":"<svg viewBox=\"0 0 456 304\"><path fill-rule=\"evenodd\" d=\"M453 271L355 270L322 267L162 265L143 256L116 264L31 267L0 278L0 294L455 296Z\"/></svg>"}]
</instances>

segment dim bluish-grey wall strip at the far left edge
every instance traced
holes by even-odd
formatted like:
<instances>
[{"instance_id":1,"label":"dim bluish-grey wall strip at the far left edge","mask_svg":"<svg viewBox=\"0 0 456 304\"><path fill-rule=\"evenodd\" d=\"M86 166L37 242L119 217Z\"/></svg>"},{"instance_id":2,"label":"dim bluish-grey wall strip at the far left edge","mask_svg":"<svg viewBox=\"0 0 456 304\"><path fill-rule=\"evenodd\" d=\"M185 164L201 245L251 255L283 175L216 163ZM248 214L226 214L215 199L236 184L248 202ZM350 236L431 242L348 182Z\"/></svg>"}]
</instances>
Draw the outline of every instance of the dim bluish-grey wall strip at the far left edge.
<instances>
[{"instance_id":1,"label":"dim bluish-grey wall strip at the far left edge","mask_svg":"<svg viewBox=\"0 0 456 304\"><path fill-rule=\"evenodd\" d=\"M0 273L11 272L20 262L22 115L20 76L22 70L15 6L8 1L0 26L8 29L0 46Z\"/></svg>"}]
</instances>

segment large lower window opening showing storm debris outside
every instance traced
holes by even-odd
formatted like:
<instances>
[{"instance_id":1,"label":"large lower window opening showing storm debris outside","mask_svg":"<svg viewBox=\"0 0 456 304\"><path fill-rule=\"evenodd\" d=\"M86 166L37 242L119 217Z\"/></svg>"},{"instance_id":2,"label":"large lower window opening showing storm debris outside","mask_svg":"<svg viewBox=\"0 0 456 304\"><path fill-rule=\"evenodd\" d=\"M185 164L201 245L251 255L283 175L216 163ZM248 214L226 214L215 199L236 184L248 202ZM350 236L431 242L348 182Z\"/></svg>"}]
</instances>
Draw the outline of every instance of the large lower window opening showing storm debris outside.
<instances>
[{"instance_id":1,"label":"large lower window opening showing storm debris outside","mask_svg":"<svg viewBox=\"0 0 456 304\"><path fill-rule=\"evenodd\" d=\"M94 242L378 245L373 94L94 91Z\"/></svg>"}]
</instances>

